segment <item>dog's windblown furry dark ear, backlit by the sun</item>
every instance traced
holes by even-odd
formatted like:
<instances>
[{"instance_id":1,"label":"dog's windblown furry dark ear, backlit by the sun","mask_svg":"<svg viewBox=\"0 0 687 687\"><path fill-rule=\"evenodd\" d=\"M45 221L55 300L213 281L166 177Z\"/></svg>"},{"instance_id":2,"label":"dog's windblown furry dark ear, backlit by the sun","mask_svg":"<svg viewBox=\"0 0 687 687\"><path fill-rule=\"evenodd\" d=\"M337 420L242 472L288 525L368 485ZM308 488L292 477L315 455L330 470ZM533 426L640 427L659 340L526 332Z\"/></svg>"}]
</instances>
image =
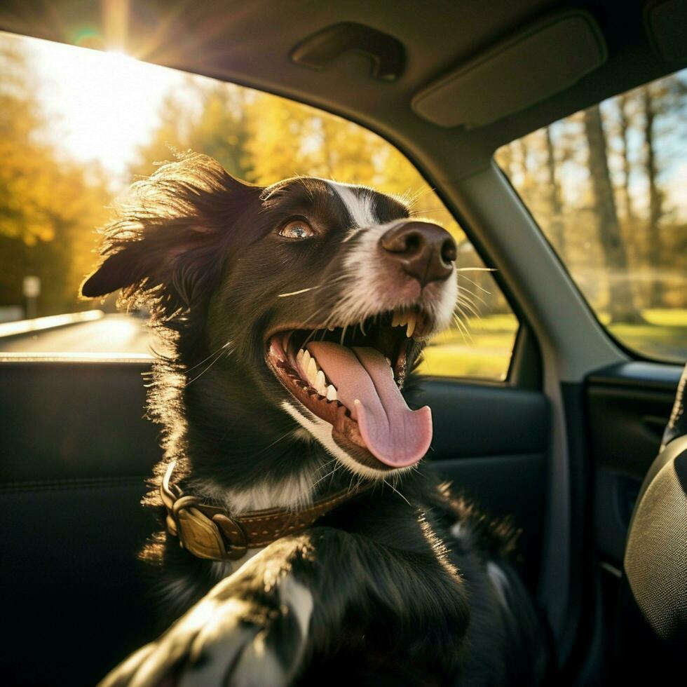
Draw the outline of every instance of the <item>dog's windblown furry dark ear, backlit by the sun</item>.
<instances>
[{"instance_id":1,"label":"dog's windblown furry dark ear, backlit by the sun","mask_svg":"<svg viewBox=\"0 0 687 687\"><path fill-rule=\"evenodd\" d=\"M222 270L231 227L262 189L234 179L208 156L192 154L132 186L118 219L104 229L102 263L81 295L119 289L170 315L189 308Z\"/></svg>"}]
</instances>

